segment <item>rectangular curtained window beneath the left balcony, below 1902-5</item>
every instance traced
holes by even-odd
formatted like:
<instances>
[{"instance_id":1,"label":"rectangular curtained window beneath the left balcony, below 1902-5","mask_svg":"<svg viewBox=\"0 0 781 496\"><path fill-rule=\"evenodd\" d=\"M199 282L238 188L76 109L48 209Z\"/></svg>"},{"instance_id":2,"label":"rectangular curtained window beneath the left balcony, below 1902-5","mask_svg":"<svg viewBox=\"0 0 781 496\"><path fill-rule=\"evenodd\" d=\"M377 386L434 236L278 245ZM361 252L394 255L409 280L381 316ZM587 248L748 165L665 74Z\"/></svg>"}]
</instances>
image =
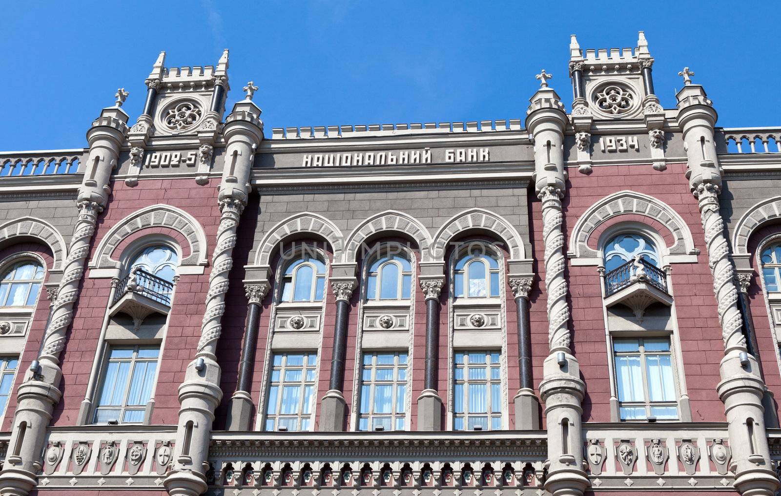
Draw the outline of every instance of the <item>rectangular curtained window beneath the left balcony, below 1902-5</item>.
<instances>
[{"instance_id":1,"label":"rectangular curtained window beneath the left balcony, below 1902-5","mask_svg":"<svg viewBox=\"0 0 781 496\"><path fill-rule=\"evenodd\" d=\"M159 348L116 347L109 351L95 409L95 423L142 423L155 385Z\"/></svg>"}]
</instances>

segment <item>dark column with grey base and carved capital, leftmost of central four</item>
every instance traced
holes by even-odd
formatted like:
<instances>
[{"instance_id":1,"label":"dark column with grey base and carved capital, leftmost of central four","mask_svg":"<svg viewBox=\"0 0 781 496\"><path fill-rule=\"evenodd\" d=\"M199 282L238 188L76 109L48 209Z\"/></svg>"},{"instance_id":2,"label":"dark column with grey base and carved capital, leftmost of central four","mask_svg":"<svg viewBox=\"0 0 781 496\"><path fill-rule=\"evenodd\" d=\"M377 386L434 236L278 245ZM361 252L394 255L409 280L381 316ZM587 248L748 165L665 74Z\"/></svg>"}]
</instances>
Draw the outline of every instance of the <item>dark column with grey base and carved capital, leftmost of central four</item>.
<instances>
[{"instance_id":1,"label":"dark column with grey base and carved capital, leftmost of central four","mask_svg":"<svg viewBox=\"0 0 781 496\"><path fill-rule=\"evenodd\" d=\"M269 287L269 283L266 281L244 286L248 300L247 327L244 329L244 346L241 348L236 391L230 398L227 430L250 430L252 398L249 395L249 390L252 383L252 369L255 366L255 344L258 341L260 327L260 304L269 293Z\"/></svg>"}]
</instances>

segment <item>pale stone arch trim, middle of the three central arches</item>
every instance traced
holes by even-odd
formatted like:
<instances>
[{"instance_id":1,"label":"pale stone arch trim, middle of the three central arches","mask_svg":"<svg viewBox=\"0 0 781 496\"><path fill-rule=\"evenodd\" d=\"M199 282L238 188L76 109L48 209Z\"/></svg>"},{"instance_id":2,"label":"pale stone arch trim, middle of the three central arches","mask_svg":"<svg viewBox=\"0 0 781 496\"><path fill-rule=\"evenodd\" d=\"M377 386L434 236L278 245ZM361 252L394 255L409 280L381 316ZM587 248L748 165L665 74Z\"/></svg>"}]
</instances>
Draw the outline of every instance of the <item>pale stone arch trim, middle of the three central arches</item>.
<instances>
[{"instance_id":1,"label":"pale stone arch trim, middle of the three central arches","mask_svg":"<svg viewBox=\"0 0 781 496\"><path fill-rule=\"evenodd\" d=\"M352 230L347 241L344 243L346 248L342 255L342 262L355 263L358 248L360 248L366 238L377 232L389 230L396 230L411 236L418 243L421 262L431 261L429 255L431 235L429 234L429 231L423 227L423 224L421 224L418 219L415 219L404 212L386 210L385 212L380 212L369 217L369 219L364 220L362 223L358 224L358 227L355 227L355 229Z\"/></svg>"}]
</instances>

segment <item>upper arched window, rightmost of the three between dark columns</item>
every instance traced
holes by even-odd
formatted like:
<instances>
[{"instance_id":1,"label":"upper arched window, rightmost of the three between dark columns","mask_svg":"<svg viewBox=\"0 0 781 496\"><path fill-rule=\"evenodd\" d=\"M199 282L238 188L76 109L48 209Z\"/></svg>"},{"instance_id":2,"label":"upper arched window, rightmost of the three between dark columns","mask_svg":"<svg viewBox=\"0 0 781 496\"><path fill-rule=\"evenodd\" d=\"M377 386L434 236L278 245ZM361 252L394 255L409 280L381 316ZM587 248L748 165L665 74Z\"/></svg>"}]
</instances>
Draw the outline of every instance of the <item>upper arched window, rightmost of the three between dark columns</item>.
<instances>
[{"instance_id":1,"label":"upper arched window, rightmost of the three between dark columns","mask_svg":"<svg viewBox=\"0 0 781 496\"><path fill-rule=\"evenodd\" d=\"M470 246L455 263L455 298L499 296L499 262L482 246Z\"/></svg>"}]
</instances>

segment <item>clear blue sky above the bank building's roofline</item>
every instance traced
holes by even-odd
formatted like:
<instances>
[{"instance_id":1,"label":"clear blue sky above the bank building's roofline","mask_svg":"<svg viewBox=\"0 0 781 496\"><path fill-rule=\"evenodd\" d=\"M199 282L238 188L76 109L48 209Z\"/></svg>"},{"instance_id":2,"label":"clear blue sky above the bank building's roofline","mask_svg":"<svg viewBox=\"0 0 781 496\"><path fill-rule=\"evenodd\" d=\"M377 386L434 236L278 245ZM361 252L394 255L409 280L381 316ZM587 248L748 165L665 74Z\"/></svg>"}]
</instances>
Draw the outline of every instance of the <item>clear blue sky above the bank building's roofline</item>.
<instances>
[{"instance_id":1,"label":"clear blue sky above the bank building's roofline","mask_svg":"<svg viewBox=\"0 0 781 496\"><path fill-rule=\"evenodd\" d=\"M78 148L117 87L134 122L144 78L214 65L230 48L228 109L254 80L273 127L522 119L541 68L568 104L569 35L634 47L645 30L662 104L683 66L725 127L781 126L777 3L8 2L0 150Z\"/></svg>"}]
</instances>

